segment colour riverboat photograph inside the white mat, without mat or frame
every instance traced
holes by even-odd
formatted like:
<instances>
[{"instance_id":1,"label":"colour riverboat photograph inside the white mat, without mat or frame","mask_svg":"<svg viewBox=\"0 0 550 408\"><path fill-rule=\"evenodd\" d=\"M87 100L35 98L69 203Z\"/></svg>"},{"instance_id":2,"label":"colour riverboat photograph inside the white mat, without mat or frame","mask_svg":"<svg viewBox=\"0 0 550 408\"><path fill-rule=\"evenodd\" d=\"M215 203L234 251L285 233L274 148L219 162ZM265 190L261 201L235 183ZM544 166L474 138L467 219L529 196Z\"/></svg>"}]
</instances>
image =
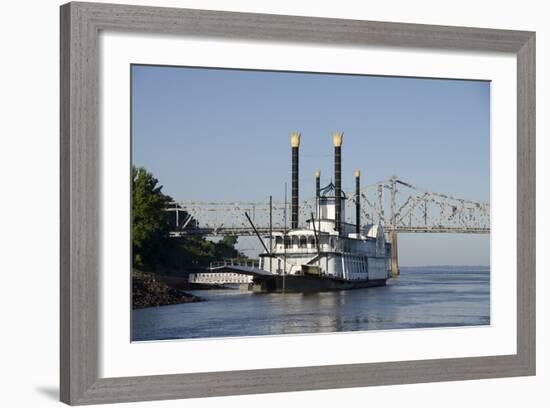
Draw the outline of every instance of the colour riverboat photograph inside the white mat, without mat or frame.
<instances>
[{"instance_id":1,"label":"colour riverboat photograph inside the white mat, without mat or frame","mask_svg":"<svg viewBox=\"0 0 550 408\"><path fill-rule=\"evenodd\" d=\"M490 325L490 81L130 69L132 341Z\"/></svg>"}]
</instances>

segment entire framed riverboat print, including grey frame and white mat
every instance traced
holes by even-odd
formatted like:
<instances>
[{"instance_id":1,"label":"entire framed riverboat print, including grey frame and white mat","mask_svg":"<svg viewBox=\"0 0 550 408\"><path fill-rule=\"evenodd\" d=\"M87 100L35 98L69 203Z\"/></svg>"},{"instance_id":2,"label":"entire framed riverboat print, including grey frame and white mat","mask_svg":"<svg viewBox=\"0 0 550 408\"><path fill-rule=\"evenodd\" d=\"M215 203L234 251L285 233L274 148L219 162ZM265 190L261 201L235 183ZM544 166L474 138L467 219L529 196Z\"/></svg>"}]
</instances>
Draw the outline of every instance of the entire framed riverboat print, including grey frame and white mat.
<instances>
[{"instance_id":1,"label":"entire framed riverboat print, including grey frame and white mat","mask_svg":"<svg viewBox=\"0 0 550 408\"><path fill-rule=\"evenodd\" d=\"M534 375L534 117L532 32L62 6L62 401Z\"/></svg>"}]
</instances>

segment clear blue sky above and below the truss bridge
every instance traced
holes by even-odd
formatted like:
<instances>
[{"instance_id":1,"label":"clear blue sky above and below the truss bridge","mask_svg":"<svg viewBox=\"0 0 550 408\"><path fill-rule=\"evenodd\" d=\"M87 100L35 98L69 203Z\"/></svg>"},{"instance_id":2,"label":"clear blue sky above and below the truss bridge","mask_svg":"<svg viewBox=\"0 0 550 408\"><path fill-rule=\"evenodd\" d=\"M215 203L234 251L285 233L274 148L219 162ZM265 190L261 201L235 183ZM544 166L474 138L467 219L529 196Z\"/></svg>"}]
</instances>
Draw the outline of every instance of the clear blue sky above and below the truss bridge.
<instances>
[{"instance_id":1,"label":"clear blue sky above and below the truss bridge","mask_svg":"<svg viewBox=\"0 0 550 408\"><path fill-rule=\"evenodd\" d=\"M294 130L300 195L313 196L316 169L332 178L340 130L344 189L360 168L366 184L397 175L489 202L489 82L134 65L132 114L134 164L177 200L282 200ZM399 255L488 265L489 237L400 235Z\"/></svg>"}]
</instances>

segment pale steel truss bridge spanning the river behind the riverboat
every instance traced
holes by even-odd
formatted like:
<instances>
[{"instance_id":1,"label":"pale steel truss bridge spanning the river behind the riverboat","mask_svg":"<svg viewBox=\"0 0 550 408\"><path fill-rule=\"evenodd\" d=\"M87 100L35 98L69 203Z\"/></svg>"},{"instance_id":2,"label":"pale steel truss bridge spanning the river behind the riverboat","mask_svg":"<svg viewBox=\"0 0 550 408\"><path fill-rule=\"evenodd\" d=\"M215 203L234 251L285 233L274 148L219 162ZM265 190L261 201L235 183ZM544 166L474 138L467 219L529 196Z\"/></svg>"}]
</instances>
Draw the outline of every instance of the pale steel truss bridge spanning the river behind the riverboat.
<instances>
[{"instance_id":1,"label":"pale steel truss bridge spanning the river behind the riverboat","mask_svg":"<svg viewBox=\"0 0 550 408\"><path fill-rule=\"evenodd\" d=\"M488 203L418 188L398 177L364 187L360 194L361 224L381 223L388 233L490 232ZM345 220L355 224L355 194L348 194ZM284 232L290 227L290 203L187 202L171 204L172 237L185 235L246 236ZM316 198L300 202L300 226L315 212Z\"/></svg>"}]
</instances>

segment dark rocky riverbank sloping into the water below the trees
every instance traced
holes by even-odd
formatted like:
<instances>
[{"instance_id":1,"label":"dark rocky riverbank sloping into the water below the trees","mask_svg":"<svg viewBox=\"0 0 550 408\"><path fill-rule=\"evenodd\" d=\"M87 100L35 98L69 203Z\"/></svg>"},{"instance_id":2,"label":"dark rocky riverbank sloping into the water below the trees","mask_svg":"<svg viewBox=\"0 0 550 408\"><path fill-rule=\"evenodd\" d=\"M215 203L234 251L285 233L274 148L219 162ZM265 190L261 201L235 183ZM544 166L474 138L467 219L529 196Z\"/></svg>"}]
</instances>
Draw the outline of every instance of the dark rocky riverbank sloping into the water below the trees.
<instances>
[{"instance_id":1,"label":"dark rocky riverbank sloping into the water below the trees","mask_svg":"<svg viewBox=\"0 0 550 408\"><path fill-rule=\"evenodd\" d=\"M164 282L159 282L152 273L137 270L132 272L133 309L202 301L204 299L199 296L185 293Z\"/></svg>"}]
</instances>

